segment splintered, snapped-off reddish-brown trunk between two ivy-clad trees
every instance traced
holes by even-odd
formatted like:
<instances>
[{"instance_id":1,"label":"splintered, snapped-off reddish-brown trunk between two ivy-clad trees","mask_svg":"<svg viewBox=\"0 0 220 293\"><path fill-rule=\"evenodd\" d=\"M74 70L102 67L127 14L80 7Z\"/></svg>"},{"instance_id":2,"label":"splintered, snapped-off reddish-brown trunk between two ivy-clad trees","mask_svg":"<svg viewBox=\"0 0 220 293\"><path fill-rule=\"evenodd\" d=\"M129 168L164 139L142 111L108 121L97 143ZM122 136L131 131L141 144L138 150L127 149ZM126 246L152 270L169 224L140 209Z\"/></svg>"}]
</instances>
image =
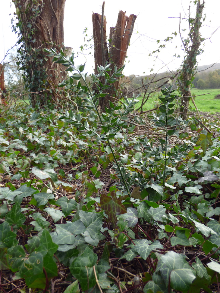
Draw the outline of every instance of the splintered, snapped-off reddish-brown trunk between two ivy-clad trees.
<instances>
[{"instance_id":1,"label":"splintered, snapped-off reddish-brown trunk between two ivy-clad trees","mask_svg":"<svg viewBox=\"0 0 220 293\"><path fill-rule=\"evenodd\" d=\"M104 2L102 5L102 15L104 16ZM105 66L106 61L108 64L112 64L112 69L114 69L115 66L118 69L124 65L130 38L134 29L134 22L137 17L134 14L131 14L129 17L127 17L125 12L121 10L119 11L116 26L110 28L110 43L108 50L106 41L106 19L105 16L102 17L102 15L98 13L93 13L92 15L96 74L98 73L97 65ZM101 29L102 26L103 36ZM101 80L102 83L104 81L105 80ZM100 98L99 105L102 111L105 110L105 106L108 108L109 100L111 100L112 97L117 96L119 84L120 81L118 80L110 89L108 89L108 95L106 95L104 98Z\"/></svg>"}]
</instances>

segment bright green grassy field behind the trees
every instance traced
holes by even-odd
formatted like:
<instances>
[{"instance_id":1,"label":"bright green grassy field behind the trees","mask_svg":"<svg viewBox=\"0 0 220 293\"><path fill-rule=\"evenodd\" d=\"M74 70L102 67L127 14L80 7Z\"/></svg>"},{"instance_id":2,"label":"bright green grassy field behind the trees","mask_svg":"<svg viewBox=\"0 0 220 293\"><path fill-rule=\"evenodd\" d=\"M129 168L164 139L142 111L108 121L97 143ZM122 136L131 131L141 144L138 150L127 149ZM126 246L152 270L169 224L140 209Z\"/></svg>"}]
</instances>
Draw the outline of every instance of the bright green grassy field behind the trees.
<instances>
[{"instance_id":1,"label":"bright green grassy field behind the trees","mask_svg":"<svg viewBox=\"0 0 220 293\"><path fill-rule=\"evenodd\" d=\"M220 89L192 89L192 94L195 95L195 103L199 111L209 112L210 114L220 113L220 99L214 99L214 97L220 94ZM155 105L159 104L158 93L150 97L143 106L143 111L147 111L155 108ZM141 106L140 102L137 103L136 109ZM191 111L196 111L193 103L190 101Z\"/></svg>"}]
</instances>

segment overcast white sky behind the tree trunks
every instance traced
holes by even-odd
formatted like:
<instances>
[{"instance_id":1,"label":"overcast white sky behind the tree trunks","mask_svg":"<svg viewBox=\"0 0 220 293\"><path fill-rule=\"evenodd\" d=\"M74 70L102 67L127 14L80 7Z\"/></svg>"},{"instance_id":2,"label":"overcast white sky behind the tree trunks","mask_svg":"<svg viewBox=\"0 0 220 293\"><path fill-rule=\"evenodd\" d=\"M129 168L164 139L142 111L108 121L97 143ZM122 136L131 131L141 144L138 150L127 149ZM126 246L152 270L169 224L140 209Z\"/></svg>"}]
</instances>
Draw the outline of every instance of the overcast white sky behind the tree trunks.
<instances>
[{"instance_id":1,"label":"overcast white sky behind the tree trunks","mask_svg":"<svg viewBox=\"0 0 220 293\"><path fill-rule=\"evenodd\" d=\"M11 0L2 0L2 2L0 18L0 62L4 59L7 50L15 45L17 40L17 36L11 30L14 5L11 5ZM179 36L172 43L168 44L167 48L163 49L158 57L156 55L149 57L149 53L156 50L160 45L160 43L157 44L157 40L163 41L168 36L171 36L172 32L178 32L179 13L181 13L181 17L186 17L189 5L190 11L194 12L191 17L194 17L194 4L190 2L190 0L105 0L107 33L111 26L115 26L120 9L126 11L127 16L130 14L137 15L133 35L130 40L130 47L127 52L128 58L126 59L124 69L125 75L148 74L151 68L154 69L154 72L157 72L160 68L162 68L161 71L175 70L181 65L183 50L180 47L181 40ZM65 45L72 47L75 53L80 51L80 46L85 44L83 30L88 28L88 37L86 39L92 36L92 12L101 14L101 11L102 0L84 0L81 2L66 0L64 15ZM219 11L219 0L205 0L203 15L206 14L206 20L203 23L201 33L207 39L204 42L205 52L198 58L199 65L220 62L220 30L217 30L212 35L220 26ZM9 15L10 13L11 15ZM182 20L181 30L185 28L188 29L187 22L186 20ZM91 52L91 55L88 55L89 52ZM94 67L93 48L85 51L85 53L86 56L79 53L76 64L83 64L86 61L86 71L92 72L92 68ZM173 57L174 54L176 56L181 55L181 57Z\"/></svg>"}]
</instances>

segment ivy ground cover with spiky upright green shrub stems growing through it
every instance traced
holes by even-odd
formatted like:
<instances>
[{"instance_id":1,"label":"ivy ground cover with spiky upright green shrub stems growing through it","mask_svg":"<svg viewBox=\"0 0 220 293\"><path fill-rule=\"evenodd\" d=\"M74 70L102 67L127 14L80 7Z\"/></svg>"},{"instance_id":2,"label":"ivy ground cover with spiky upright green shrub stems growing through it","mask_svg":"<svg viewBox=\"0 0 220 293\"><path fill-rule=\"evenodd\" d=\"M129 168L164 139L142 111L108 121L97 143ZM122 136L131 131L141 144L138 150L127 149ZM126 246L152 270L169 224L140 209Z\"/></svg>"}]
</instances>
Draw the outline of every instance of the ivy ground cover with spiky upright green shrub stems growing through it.
<instances>
[{"instance_id":1,"label":"ivy ground cover with spiky upright green shrub stems growing through it","mask_svg":"<svg viewBox=\"0 0 220 293\"><path fill-rule=\"evenodd\" d=\"M50 54L73 73L61 86L85 109L2 111L1 269L24 292L61 284L65 293L212 292L220 280L218 121L186 124L168 88L149 126L138 118L137 136L135 98L98 108L123 68L110 77L100 67L92 90L73 56Z\"/></svg>"}]
</instances>

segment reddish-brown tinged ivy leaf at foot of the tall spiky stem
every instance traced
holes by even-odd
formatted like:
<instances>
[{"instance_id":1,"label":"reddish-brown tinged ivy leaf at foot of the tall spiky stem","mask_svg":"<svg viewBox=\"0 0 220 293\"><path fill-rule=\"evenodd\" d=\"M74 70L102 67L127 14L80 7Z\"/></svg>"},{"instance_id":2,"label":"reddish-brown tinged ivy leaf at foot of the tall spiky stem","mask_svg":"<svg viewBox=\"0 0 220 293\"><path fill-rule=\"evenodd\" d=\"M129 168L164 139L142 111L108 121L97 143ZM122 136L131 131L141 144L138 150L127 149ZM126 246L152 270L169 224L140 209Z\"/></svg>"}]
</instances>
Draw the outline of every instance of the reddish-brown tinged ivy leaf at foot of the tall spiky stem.
<instances>
[{"instance_id":1,"label":"reddish-brown tinged ivy leaf at foot of the tall spiky stem","mask_svg":"<svg viewBox=\"0 0 220 293\"><path fill-rule=\"evenodd\" d=\"M118 221L116 215L127 213L126 208L121 203L120 199L116 197L116 193L114 191L111 192L111 196L102 194L100 203L101 208L108 215L109 222L112 224L113 228L115 228Z\"/></svg>"}]
</instances>

